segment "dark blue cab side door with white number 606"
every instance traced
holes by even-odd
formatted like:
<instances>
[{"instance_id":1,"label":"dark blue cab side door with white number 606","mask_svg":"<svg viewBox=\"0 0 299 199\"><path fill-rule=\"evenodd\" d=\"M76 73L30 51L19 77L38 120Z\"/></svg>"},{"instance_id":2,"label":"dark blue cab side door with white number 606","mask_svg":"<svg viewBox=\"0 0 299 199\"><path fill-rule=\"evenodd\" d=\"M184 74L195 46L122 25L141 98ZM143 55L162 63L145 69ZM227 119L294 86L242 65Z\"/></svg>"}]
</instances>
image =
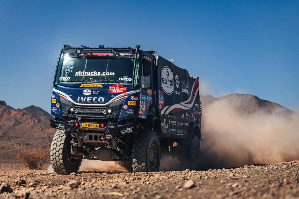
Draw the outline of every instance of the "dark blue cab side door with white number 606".
<instances>
[{"instance_id":1,"label":"dark blue cab side door with white number 606","mask_svg":"<svg viewBox=\"0 0 299 199\"><path fill-rule=\"evenodd\" d=\"M154 59L147 55L142 55L141 60L141 84L140 84L140 103L138 118L147 118L148 115L155 112L153 104L154 96L154 82L153 82L153 69Z\"/></svg>"}]
</instances>

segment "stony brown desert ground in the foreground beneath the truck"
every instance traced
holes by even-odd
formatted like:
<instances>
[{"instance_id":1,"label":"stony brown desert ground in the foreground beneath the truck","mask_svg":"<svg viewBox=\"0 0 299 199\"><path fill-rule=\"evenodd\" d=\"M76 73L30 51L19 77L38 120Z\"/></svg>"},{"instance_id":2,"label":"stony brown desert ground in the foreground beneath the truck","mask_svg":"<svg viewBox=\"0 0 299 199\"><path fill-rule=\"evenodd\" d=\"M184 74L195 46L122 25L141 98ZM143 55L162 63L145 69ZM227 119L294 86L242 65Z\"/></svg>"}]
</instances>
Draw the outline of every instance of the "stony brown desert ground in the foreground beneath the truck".
<instances>
[{"instance_id":1,"label":"stony brown desert ground in the foreground beneath the truck","mask_svg":"<svg viewBox=\"0 0 299 199\"><path fill-rule=\"evenodd\" d=\"M0 168L0 191L11 191L8 183L12 189L0 198L299 198L299 161L208 171L71 175L14 166Z\"/></svg>"}]
</instances>

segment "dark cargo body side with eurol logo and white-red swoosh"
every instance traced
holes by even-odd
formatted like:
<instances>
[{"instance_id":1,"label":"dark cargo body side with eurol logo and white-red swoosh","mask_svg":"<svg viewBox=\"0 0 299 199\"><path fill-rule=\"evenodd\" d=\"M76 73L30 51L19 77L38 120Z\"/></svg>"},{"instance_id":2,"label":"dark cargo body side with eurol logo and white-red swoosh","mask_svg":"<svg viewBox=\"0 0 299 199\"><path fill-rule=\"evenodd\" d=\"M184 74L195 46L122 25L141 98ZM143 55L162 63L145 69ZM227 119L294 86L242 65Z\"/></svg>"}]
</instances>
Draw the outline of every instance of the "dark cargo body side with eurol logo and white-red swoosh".
<instances>
[{"instance_id":1,"label":"dark cargo body side with eurol logo and white-red swoosh","mask_svg":"<svg viewBox=\"0 0 299 199\"><path fill-rule=\"evenodd\" d=\"M162 135L187 139L190 123L194 123L196 118L200 121L202 115L199 78L191 78L186 69L161 56L157 57L157 69L157 104Z\"/></svg>"}]
</instances>

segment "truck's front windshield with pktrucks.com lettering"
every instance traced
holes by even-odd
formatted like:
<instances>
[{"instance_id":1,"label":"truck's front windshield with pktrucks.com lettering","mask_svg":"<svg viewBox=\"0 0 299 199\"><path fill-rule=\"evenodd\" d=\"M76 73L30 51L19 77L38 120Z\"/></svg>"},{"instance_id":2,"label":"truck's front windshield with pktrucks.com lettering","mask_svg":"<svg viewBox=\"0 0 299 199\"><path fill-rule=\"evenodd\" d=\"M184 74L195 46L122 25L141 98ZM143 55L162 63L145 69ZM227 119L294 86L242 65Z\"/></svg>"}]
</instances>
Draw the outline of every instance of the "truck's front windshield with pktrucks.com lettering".
<instances>
[{"instance_id":1,"label":"truck's front windshield with pktrucks.com lettering","mask_svg":"<svg viewBox=\"0 0 299 199\"><path fill-rule=\"evenodd\" d=\"M135 56L77 57L77 54L62 54L56 82L132 84Z\"/></svg>"}]
</instances>

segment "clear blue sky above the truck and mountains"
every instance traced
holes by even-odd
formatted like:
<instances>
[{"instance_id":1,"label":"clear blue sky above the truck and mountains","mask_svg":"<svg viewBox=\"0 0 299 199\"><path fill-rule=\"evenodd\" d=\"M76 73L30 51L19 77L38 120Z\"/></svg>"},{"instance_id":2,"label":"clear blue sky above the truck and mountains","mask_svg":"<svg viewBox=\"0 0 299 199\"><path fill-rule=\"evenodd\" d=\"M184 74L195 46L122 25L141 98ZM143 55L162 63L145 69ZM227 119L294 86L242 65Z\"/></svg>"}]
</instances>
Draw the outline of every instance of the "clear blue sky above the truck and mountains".
<instances>
[{"instance_id":1,"label":"clear blue sky above the truck and mountains","mask_svg":"<svg viewBox=\"0 0 299 199\"><path fill-rule=\"evenodd\" d=\"M140 44L199 76L203 94L299 111L299 1L148 2L1 1L0 100L50 112L63 44Z\"/></svg>"}]
</instances>

